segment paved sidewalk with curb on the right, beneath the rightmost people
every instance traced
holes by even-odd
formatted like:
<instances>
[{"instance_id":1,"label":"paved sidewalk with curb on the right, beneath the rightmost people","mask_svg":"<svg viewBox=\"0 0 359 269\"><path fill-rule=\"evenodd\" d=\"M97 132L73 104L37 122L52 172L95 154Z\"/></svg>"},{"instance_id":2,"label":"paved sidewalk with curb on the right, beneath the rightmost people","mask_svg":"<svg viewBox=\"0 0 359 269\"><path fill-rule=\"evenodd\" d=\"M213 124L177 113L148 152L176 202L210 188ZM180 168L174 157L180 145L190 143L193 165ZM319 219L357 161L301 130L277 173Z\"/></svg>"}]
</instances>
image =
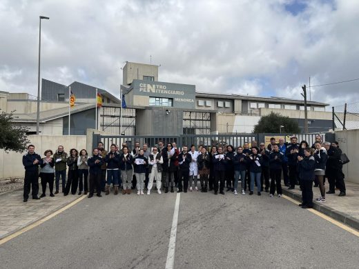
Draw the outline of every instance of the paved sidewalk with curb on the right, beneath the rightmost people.
<instances>
[{"instance_id":1,"label":"paved sidewalk with curb on the right, beneath the rightmost people","mask_svg":"<svg viewBox=\"0 0 359 269\"><path fill-rule=\"evenodd\" d=\"M314 201L314 209L359 230L359 184L346 181L345 186L347 196L338 197L339 190L336 190L335 195L325 195L324 203ZM299 190L299 186L295 186L294 190L288 190L288 187L282 185L282 189L284 195L302 201L302 192ZM329 185L326 181L325 191L328 190ZM313 194L313 199L320 197L319 188L313 187Z\"/></svg>"}]
</instances>

